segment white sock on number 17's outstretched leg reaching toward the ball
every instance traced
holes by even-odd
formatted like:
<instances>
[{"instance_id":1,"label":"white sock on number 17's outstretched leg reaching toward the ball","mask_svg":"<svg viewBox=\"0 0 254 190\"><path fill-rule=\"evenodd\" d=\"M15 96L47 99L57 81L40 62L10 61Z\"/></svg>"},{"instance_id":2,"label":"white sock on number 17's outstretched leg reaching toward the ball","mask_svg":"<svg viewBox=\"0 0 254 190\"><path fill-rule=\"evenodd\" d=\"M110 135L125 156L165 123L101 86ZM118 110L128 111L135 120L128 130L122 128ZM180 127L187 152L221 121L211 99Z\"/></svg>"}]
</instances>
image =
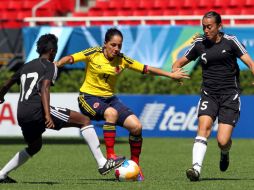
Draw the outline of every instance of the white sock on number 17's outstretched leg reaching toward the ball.
<instances>
[{"instance_id":1,"label":"white sock on number 17's outstretched leg reaching toward the ball","mask_svg":"<svg viewBox=\"0 0 254 190\"><path fill-rule=\"evenodd\" d=\"M80 129L80 131L98 164L98 168L102 168L107 162L107 159L103 156L101 152L100 142L93 128L93 125L83 127Z\"/></svg>"}]
</instances>

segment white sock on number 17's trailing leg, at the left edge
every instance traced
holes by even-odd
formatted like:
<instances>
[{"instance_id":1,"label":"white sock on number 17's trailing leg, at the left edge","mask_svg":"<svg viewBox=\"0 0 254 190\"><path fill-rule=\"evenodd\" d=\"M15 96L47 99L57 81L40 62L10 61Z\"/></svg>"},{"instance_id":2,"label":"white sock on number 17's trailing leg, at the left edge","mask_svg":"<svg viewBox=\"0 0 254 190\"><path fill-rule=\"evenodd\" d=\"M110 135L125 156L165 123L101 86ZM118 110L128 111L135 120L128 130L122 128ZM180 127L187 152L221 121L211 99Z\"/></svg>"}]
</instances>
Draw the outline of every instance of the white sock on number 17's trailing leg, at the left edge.
<instances>
[{"instance_id":1,"label":"white sock on number 17's trailing leg, at the left edge","mask_svg":"<svg viewBox=\"0 0 254 190\"><path fill-rule=\"evenodd\" d=\"M15 156L0 171L0 179L6 178L8 173L24 164L30 157L31 156L27 153L26 149L17 152Z\"/></svg>"}]
</instances>

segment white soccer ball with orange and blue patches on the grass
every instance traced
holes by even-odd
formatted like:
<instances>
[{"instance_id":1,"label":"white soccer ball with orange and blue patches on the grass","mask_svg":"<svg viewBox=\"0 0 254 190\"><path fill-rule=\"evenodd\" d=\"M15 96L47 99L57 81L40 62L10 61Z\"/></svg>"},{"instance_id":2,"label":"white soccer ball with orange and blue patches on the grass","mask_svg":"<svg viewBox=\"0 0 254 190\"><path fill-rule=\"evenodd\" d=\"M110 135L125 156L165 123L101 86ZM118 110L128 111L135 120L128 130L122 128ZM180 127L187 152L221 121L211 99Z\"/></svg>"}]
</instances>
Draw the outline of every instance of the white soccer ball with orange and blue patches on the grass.
<instances>
[{"instance_id":1,"label":"white soccer ball with orange and blue patches on the grass","mask_svg":"<svg viewBox=\"0 0 254 190\"><path fill-rule=\"evenodd\" d=\"M115 176L119 181L136 181L139 172L136 162L125 160L119 168L115 169Z\"/></svg>"}]
</instances>

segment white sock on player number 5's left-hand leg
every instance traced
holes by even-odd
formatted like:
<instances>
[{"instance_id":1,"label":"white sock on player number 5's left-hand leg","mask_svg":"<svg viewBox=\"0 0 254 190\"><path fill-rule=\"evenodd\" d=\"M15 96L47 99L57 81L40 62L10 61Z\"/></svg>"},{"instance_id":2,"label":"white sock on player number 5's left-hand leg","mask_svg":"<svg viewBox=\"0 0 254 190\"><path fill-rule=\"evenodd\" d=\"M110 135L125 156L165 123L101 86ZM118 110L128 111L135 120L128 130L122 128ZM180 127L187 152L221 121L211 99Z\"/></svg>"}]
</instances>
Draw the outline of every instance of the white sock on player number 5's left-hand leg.
<instances>
[{"instance_id":1,"label":"white sock on player number 5's left-hand leg","mask_svg":"<svg viewBox=\"0 0 254 190\"><path fill-rule=\"evenodd\" d=\"M202 163L207 149L207 138L197 136L192 150L192 165L195 170L201 172Z\"/></svg>"}]
</instances>

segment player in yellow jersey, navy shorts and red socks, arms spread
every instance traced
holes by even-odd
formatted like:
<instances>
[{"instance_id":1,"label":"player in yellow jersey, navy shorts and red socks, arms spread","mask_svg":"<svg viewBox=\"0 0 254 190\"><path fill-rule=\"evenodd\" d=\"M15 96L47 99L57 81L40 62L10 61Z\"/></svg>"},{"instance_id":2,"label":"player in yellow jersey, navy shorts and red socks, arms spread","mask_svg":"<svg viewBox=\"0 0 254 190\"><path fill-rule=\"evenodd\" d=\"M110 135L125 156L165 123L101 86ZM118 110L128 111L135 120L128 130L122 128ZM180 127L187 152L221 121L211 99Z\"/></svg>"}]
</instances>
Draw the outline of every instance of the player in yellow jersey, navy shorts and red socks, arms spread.
<instances>
[{"instance_id":1,"label":"player in yellow jersey, navy shorts and red socks, arms spread","mask_svg":"<svg viewBox=\"0 0 254 190\"><path fill-rule=\"evenodd\" d=\"M105 120L103 134L108 158L118 159L114 152L116 125L128 129L131 160L139 164L142 125L137 116L114 95L118 76L127 68L143 74L173 79L189 78L189 76L181 69L171 73L126 57L120 53L122 42L122 33L116 28L111 28L106 32L103 47L88 48L65 56L56 64L61 67L79 61L86 63L85 81L80 88L78 98L82 113L93 120ZM144 180L142 172L137 180Z\"/></svg>"}]
</instances>

